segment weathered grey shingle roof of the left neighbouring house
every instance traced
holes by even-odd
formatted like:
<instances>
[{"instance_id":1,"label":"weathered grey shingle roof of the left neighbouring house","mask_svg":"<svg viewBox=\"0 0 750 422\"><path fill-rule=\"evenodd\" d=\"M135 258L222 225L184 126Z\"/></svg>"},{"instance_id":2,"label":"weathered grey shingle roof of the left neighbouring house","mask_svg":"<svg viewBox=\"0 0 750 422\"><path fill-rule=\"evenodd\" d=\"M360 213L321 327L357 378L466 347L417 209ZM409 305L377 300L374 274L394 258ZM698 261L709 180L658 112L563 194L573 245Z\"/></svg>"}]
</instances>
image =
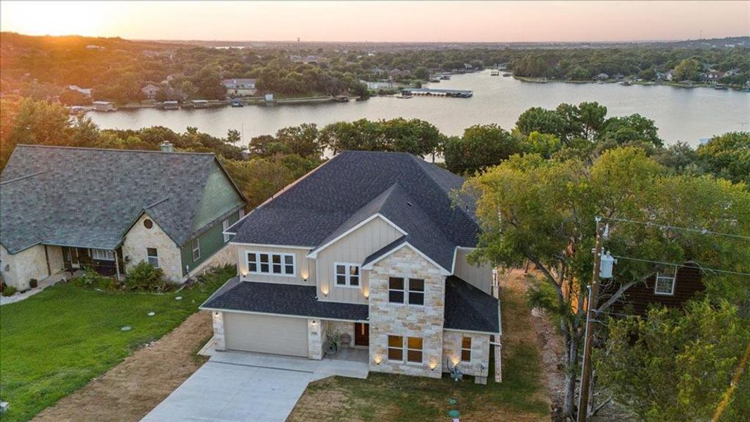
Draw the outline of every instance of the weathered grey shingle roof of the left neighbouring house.
<instances>
[{"instance_id":1,"label":"weathered grey shingle roof of the left neighbouring house","mask_svg":"<svg viewBox=\"0 0 750 422\"><path fill-rule=\"evenodd\" d=\"M10 253L36 243L114 249L145 210L182 245L213 154L19 145L0 182L0 238Z\"/></svg>"}]
</instances>

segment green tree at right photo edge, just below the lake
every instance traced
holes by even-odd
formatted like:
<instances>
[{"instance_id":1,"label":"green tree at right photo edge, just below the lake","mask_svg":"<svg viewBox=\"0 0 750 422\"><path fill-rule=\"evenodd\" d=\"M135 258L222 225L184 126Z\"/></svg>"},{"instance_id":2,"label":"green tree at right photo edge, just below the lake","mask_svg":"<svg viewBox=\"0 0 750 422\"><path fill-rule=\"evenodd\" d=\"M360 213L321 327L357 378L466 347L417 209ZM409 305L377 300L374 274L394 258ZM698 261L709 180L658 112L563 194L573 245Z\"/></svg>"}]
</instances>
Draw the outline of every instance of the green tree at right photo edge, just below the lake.
<instances>
[{"instance_id":1,"label":"green tree at right photo edge, just below the lake","mask_svg":"<svg viewBox=\"0 0 750 422\"><path fill-rule=\"evenodd\" d=\"M697 155L718 177L750 188L750 132L728 132L698 146Z\"/></svg>"}]
</instances>

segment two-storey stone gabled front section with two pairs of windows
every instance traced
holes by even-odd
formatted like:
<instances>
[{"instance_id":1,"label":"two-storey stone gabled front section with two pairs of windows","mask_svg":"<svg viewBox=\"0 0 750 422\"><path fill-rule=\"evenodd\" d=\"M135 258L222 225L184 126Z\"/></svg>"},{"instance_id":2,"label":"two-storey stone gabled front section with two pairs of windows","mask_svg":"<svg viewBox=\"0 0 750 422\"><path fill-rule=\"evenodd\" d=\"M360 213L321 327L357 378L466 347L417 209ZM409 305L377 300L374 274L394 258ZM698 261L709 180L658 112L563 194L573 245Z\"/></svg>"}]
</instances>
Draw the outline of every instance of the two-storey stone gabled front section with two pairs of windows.
<instances>
[{"instance_id":1,"label":"two-storey stone gabled front section with two pairs of windows","mask_svg":"<svg viewBox=\"0 0 750 422\"><path fill-rule=\"evenodd\" d=\"M389 277L425 280L425 305L389 303ZM373 266L370 273L370 370L440 378L446 276L408 246ZM421 337L422 363L388 359L388 336ZM380 362L380 363L378 363Z\"/></svg>"}]
</instances>

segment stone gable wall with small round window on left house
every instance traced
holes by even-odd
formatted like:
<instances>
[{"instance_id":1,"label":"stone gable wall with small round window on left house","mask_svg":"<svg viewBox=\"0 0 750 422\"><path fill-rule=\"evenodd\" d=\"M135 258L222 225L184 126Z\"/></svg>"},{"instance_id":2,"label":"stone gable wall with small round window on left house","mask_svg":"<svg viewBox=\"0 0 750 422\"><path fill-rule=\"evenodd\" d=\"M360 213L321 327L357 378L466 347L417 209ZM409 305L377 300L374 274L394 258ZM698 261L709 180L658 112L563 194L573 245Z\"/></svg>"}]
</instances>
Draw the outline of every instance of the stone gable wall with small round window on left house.
<instances>
[{"instance_id":1,"label":"stone gable wall with small round window on left house","mask_svg":"<svg viewBox=\"0 0 750 422\"><path fill-rule=\"evenodd\" d=\"M125 234L122 255L130 258L130 261L125 264L127 270L141 261L146 261L147 248L156 248L157 255L159 255L159 267L164 270L166 279L175 283L184 282L180 249L157 225L157 222L151 220L154 223L153 227L145 228L143 225L145 219L151 218L144 214Z\"/></svg>"}]
</instances>

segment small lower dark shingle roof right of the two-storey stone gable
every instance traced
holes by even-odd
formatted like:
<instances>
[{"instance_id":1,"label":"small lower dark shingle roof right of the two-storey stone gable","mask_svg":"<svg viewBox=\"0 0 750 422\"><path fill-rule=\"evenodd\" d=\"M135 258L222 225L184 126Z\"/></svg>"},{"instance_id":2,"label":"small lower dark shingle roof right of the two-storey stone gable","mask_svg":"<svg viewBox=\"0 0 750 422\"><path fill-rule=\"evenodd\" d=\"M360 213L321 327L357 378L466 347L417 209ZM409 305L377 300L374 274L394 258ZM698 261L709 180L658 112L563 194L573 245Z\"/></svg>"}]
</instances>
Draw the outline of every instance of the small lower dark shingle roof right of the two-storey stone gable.
<instances>
[{"instance_id":1,"label":"small lower dark shingle roof right of the two-storey stone gable","mask_svg":"<svg viewBox=\"0 0 750 422\"><path fill-rule=\"evenodd\" d=\"M456 276L446 278L446 324L453 330L499 333L497 299Z\"/></svg>"}]
</instances>

